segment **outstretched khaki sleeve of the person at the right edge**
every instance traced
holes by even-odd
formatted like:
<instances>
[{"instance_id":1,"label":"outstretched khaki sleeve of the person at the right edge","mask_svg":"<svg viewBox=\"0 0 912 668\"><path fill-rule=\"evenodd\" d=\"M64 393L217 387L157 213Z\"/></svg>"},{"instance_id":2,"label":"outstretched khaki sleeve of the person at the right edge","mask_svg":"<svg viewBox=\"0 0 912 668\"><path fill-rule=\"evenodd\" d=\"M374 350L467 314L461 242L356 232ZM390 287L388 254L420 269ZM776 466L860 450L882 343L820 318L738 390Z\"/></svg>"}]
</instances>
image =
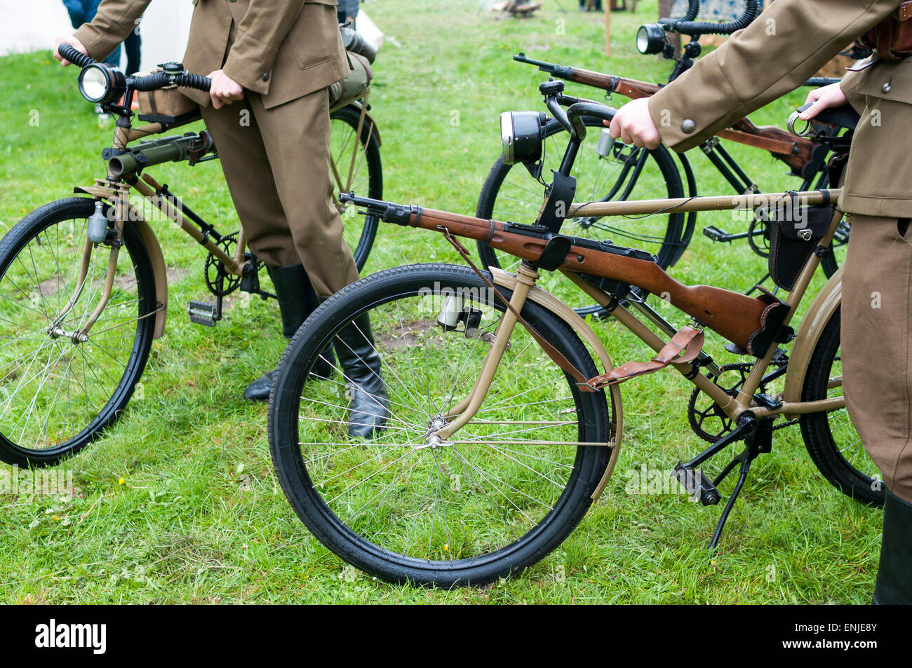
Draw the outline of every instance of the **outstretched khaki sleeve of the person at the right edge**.
<instances>
[{"instance_id":1,"label":"outstretched khaki sleeve of the person at the right edge","mask_svg":"<svg viewBox=\"0 0 912 668\"><path fill-rule=\"evenodd\" d=\"M662 141L691 149L801 86L897 0L776 0L649 100ZM851 83L851 82L850 82Z\"/></svg>"}]
</instances>

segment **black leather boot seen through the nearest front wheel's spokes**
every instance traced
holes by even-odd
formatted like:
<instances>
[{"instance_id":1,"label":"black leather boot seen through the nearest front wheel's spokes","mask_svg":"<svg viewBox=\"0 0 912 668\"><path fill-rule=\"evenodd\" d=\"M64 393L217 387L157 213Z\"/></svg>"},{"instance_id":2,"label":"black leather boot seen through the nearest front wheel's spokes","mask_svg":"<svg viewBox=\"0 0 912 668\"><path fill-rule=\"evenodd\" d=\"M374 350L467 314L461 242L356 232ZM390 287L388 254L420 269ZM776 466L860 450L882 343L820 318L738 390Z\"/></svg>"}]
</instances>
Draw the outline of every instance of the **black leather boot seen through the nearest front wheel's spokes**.
<instances>
[{"instance_id":1,"label":"black leather boot seen through the nearest front wheel's spokes","mask_svg":"<svg viewBox=\"0 0 912 668\"><path fill-rule=\"evenodd\" d=\"M367 313L337 334L336 355L351 392L348 436L373 438L387 424L389 398Z\"/></svg>"}]
</instances>

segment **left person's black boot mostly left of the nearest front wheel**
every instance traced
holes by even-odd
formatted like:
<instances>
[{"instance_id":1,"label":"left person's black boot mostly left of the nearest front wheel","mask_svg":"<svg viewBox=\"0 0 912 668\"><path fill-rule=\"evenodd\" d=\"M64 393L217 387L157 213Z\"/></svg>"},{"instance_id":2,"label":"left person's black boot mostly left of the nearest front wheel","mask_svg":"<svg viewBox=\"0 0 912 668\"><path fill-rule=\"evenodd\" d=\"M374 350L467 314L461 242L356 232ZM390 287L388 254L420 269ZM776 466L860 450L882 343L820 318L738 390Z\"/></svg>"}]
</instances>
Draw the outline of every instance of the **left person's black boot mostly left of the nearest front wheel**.
<instances>
[{"instance_id":1,"label":"left person's black boot mostly left of the nearest front wheel","mask_svg":"<svg viewBox=\"0 0 912 668\"><path fill-rule=\"evenodd\" d=\"M282 313L282 334L290 339L297 328L304 323L307 316L314 313L319 305L314 286L302 264L291 264L286 267L267 267L269 277L275 285L275 296L278 298L279 312ZM325 359L317 360L313 373L323 378L333 371L335 358L332 350L323 351ZM269 401L273 387L275 370L267 371L244 389L244 398L251 401Z\"/></svg>"}]
</instances>

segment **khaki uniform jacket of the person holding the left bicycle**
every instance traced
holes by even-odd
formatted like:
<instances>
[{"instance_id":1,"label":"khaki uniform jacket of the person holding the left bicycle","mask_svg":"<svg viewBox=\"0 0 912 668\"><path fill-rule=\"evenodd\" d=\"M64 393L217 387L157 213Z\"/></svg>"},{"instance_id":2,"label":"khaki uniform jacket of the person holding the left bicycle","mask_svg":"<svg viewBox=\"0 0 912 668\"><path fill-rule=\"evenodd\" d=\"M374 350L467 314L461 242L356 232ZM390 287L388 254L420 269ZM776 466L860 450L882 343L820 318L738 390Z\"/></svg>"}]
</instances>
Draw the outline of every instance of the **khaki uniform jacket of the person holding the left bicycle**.
<instances>
[{"instance_id":1,"label":"khaki uniform jacket of the person holding the left bicycle","mask_svg":"<svg viewBox=\"0 0 912 668\"><path fill-rule=\"evenodd\" d=\"M336 0L192 0L183 65L193 74L223 69L265 108L301 98L347 77ZM96 59L130 34L151 0L103 0L76 36ZM229 45L229 39L233 42ZM209 95L181 88L201 105Z\"/></svg>"}]
</instances>

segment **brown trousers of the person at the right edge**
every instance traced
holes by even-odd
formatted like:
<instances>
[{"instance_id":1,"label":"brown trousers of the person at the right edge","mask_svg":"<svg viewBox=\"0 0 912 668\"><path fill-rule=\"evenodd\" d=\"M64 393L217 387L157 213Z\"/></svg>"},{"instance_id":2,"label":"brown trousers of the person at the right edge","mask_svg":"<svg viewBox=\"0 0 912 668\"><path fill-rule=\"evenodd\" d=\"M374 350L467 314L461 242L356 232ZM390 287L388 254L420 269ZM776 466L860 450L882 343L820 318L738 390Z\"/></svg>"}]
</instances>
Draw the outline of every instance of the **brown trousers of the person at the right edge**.
<instances>
[{"instance_id":1,"label":"brown trousers of the person at the right edge","mask_svg":"<svg viewBox=\"0 0 912 668\"><path fill-rule=\"evenodd\" d=\"M845 403L886 488L912 502L910 318L909 220L854 214L843 269Z\"/></svg>"}]
</instances>

